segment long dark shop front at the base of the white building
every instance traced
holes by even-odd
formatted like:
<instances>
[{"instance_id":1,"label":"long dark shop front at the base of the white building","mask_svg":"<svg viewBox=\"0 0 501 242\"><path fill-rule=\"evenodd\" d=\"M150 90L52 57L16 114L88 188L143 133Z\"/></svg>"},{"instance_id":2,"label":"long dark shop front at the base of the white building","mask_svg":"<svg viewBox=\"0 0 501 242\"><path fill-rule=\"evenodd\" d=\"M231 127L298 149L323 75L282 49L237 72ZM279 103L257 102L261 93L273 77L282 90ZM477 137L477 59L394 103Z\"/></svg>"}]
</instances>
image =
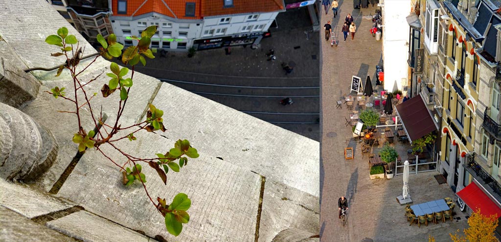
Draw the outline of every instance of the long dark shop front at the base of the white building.
<instances>
[{"instance_id":1,"label":"long dark shop front at the base of the white building","mask_svg":"<svg viewBox=\"0 0 501 242\"><path fill-rule=\"evenodd\" d=\"M257 45L261 39L271 37L270 32L257 32L218 38L195 40L193 47L197 50L215 49L238 45Z\"/></svg>"}]
</instances>

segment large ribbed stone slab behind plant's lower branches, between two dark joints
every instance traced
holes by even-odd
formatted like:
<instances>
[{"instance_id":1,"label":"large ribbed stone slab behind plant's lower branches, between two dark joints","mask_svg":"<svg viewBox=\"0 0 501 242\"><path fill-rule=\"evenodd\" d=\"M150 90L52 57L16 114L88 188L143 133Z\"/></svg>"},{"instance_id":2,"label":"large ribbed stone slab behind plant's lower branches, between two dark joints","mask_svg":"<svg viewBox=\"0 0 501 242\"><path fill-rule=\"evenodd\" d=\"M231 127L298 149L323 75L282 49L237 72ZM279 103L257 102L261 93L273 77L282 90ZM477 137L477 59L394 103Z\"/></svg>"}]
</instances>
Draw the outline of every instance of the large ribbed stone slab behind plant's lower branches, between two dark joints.
<instances>
[{"instance_id":1,"label":"large ribbed stone slab behind plant's lower branches, between two dark joints","mask_svg":"<svg viewBox=\"0 0 501 242\"><path fill-rule=\"evenodd\" d=\"M152 133L138 132L137 141L124 140L121 150L136 157L152 158L166 152L174 141ZM197 148L197 144L192 144ZM102 150L116 162L125 160L118 152L103 146ZM167 174L164 185L156 172L143 164L147 188L153 198L166 198L186 193L192 201L188 210L190 222L175 241L240 241L254 240L261 178L259 175L221 161L214 153L199 150L200 158L189 159L179 173ZM85 192L79 192L85 191ZM124 187L119 169L99 152L89 150L59 191L58 195L78 202L93 213L150 237L159 234L171 241L163 217L148 200L142 185L136 182Z\"/></svg>"}]
</instances>

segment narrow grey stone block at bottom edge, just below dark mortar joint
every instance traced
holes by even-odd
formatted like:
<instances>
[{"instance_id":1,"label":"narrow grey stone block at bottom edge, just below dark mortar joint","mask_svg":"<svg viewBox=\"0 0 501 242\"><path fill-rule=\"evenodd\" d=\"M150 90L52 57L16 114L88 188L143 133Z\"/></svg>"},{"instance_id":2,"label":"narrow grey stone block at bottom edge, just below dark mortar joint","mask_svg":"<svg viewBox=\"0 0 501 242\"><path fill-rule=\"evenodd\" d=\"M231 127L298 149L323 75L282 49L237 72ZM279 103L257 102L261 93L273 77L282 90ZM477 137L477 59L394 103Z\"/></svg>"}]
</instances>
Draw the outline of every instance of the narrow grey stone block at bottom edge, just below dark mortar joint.
<instances>
[{"instance_id":1,"label":"narrow grey stone block at bottom edge, just below dark mortar joint","mask_svg":"<svg viewBox=\"0 0 501 242\"><path fill-rule=\"evenodd\" d=\"M156 241L87 211L49 221L47 226L83 241Z\"/></svg>"}]
</instances>

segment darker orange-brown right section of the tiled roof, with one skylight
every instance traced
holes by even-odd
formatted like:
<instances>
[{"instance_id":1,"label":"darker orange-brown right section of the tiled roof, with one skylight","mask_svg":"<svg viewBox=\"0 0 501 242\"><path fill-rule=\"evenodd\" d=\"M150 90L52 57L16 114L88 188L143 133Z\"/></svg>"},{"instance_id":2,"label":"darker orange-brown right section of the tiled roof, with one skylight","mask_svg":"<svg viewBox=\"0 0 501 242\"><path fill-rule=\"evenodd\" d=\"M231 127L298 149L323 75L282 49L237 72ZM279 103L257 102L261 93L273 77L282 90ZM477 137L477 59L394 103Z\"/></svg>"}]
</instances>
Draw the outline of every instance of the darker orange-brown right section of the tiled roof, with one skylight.
<instances>
[{"instance_id":1,"label":"darker orange-brown right section of the tiled roof, with one skylight","mask_svg":"<svg viewBox=\"0 0 501 242\"><path fill-rule=\"evenodd\" d=\"M203 16L263 13L285 10L283 0L233 0L233 7L224 8L223 0L202 0Z\"/></svg>"}]
</instances>

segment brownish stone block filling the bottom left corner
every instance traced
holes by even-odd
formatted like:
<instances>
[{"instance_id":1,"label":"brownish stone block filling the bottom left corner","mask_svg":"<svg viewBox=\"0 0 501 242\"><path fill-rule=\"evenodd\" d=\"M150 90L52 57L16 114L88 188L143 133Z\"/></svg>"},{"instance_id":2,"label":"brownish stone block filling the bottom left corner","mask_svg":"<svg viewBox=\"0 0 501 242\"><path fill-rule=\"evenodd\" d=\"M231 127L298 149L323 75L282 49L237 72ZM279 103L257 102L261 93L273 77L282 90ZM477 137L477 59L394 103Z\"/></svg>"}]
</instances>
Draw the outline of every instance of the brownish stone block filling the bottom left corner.
<instances>
[{"instance_id":1,"label":"brownish stone block filling the bottom left corner","mask_svg":"<svg viewBox=\"0 0 501 242\"><path fill-rule=\"evenodd\" d=\"M0 206L0 224L2 224L0 241L77 241L44 225L35 223L4 206Z\"/></svg>"}]
</instances>

